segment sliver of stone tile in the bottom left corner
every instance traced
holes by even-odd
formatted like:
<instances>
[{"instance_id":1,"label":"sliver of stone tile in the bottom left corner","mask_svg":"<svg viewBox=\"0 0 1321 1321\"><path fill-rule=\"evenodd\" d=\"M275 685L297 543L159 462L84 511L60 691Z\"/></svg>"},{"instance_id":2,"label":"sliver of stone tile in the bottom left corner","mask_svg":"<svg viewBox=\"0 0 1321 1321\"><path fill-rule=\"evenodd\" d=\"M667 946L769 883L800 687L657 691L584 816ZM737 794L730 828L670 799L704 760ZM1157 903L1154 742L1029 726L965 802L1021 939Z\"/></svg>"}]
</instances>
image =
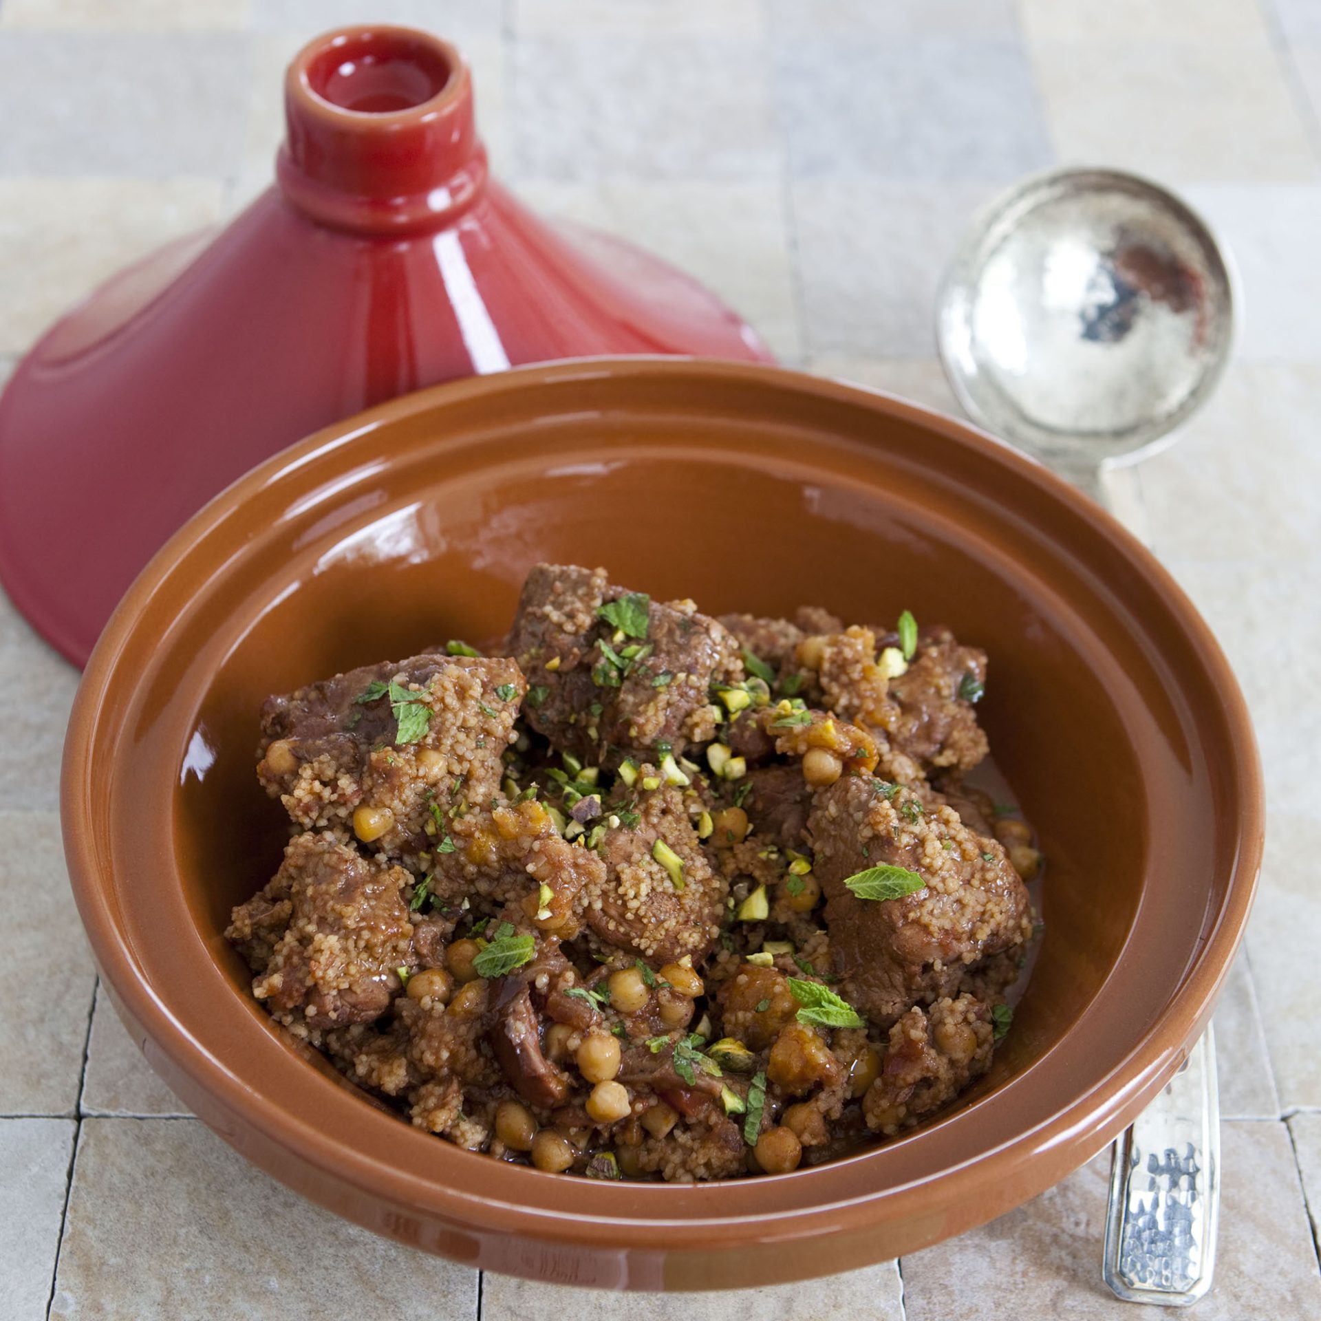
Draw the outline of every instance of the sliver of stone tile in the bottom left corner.
<instances>
[{"instance_id":1,"label":"sliver of stone tile in the bottom left corner","mask_svg":"<svg viewBox=\"0 0 1321 1321\"><path fill-rule=\"evenodd\" d=\"M75 1127L0 1119L0 1312L13 1321L46 1314Z\"/></svg>"}]
</instances>

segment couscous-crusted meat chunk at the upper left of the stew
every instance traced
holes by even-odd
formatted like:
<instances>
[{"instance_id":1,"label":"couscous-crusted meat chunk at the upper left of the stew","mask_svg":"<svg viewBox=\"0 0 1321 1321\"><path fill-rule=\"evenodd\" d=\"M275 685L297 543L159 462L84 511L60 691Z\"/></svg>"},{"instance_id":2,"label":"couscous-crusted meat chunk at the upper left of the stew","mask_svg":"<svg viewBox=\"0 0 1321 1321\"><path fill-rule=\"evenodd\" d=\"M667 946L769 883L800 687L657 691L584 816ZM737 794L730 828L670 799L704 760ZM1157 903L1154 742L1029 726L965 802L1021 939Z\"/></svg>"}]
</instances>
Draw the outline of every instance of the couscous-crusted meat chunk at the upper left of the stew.
<instances>
[{"instance_id":1,"label":"couscous-crusted meat chunk at the upper left of the stew","mask_svg":"<svg viewBox=\"0 0 1321 1321\"><path fill-rule=\"evenodd\" d=\"M509 659L421 655L350 670L267 701L258 778L300 826L345 826L404 857L427 848L433 808L498 793L523 691Z\"/></svg>"}]
</instances>

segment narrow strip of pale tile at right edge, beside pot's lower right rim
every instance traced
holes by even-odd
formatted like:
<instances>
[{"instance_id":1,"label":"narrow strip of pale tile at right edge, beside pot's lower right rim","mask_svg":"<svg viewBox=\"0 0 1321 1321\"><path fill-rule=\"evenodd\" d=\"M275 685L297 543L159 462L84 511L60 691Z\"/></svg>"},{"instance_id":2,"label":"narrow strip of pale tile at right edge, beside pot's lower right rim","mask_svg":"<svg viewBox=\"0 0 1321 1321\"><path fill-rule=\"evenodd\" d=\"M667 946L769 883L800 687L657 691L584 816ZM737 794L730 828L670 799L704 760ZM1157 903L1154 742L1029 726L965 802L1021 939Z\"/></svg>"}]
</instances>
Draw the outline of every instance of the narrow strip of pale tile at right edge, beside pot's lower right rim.
<instances>
[{"instance_id":1,"label":"narrow strip of pale tile at right edge, beside pot's lower right rim","mask_svg":"<svg viewBox=\"0 0 1321 1321\"><path fill-rule=\"evenodd\" d=\"M1321 1018L1314 1005L1321 820L1276 811L1247 929L1262 1024L1284 1114L1321 1108Z\"/></svg>"}]
</instances>

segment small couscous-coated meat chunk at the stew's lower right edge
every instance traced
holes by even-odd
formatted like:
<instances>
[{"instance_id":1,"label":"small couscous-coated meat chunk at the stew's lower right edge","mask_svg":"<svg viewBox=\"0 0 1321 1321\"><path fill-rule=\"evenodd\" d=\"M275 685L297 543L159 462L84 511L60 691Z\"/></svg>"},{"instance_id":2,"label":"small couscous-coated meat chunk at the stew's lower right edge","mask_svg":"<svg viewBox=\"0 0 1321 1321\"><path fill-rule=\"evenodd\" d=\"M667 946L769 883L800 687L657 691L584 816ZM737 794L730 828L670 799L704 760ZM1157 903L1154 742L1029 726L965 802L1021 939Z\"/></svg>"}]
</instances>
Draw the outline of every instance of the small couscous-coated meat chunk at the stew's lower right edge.
<instances>
[{"instance_id":1,"label":"small couscous-coated meat chunk at the stew's lower right edge","mask_svg":"<svg viewBox=\"0 0 1321 1321\"><path fill-rule=\"evenodd\" d=\"M970 995L913 1008L890 1028L880 1077L863 1098L872 1132L896 1133L947 1106L991 1067L995 1029Z\"/></svg>"}]
</instances>

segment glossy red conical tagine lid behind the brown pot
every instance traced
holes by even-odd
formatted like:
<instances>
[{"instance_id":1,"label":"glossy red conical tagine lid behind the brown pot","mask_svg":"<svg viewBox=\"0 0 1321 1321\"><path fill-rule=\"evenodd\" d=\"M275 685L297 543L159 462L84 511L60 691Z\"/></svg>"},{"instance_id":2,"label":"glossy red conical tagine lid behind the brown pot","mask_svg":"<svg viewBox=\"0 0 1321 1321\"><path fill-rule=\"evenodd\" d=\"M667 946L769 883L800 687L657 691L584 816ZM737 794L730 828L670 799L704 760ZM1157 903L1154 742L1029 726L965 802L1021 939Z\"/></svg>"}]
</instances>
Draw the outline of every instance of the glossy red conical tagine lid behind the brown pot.
<instances>
[{"instance_id":1,"label":"glossy red conical tagine lid behind the brown pot","mask_svg":"<svg viewBox=\"0 0 1321 1321\"><path fill-rule=\"evenodd\" d=\"M0 579L75 663L185 519L339 417L553 358L770 358L687 276L491 182L449 44L321 37L285 108L277 185L111 279L0 396Z\"/></svg>"}]
</instances>

